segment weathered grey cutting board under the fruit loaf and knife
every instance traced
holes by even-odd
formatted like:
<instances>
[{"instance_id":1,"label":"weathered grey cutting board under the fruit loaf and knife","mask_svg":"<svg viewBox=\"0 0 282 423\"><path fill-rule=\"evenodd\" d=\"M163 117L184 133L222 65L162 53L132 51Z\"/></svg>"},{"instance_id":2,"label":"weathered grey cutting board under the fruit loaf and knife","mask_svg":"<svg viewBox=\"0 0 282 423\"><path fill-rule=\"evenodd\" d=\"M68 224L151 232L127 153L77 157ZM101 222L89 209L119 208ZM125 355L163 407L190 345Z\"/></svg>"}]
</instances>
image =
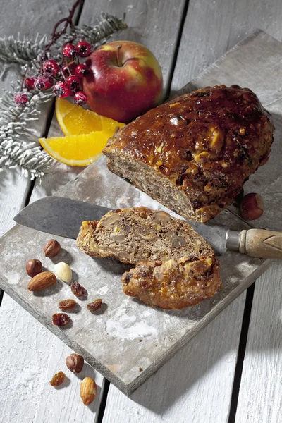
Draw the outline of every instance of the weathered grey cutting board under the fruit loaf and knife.
<instances>
[{"instance_id":1,"label":"weathered grey cutting board under the fruit loaf and knife","mask_svg":"<svg viewBox=\"0 0 282 423\"><path fill-rule=\"evenodd\" d=\"M266 200L265 217L259 221L259 226L274 230L281 230L282 154L281 143L280 149L278 145L282 128L281 69L282 44L258 31L183 89L189 92L197 87L219 83L247 86L258 94L267 109L274 112L277 128L274 151L269 163L250 178L249 185L250 188L255 185ZM61 188L58 195L113 208L145 205L167 211L158 202L110 173L104 157ZM234 230L250 228L235 215L235 209L231 210L222 212L215 221L226 223ZM227 252L219 258L223 279L220 293L195 307L164 311L147 307L123 294L121 274L130 266L113 259L88 257L78 250L74 240L59 237L56 239L61 243L61 252L54 259L47 259L42 254L42 245L47 239L49 235L46 233L18 225L1 238L0 287L127 395L250 286L270 264L269 260ZM66 283L59 281L56 286L39 293L27 290L29 279L25 273L25 262L30 257L42 259L49 270L56 262L68 262L74 279L87 289L87 300L78 300L78 312L69 313L71 326L60 329L51 323L52 314L59 312L58 302L74 298ZM102 312L91 314L86 304L95 298L102 298L106 306Z\"/></svg>"}]
</instances>

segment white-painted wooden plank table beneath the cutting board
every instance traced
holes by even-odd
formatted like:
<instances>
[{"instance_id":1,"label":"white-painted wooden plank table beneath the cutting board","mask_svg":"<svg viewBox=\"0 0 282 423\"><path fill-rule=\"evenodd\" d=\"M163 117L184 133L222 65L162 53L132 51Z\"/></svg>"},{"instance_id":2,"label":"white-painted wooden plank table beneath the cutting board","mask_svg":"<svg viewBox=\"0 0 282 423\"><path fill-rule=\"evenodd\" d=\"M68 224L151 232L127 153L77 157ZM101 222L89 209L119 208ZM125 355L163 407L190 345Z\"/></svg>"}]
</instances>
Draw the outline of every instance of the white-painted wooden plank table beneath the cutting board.
<instances>
[{"instance_id":1,"label":"white-painted wooden plank table beneath the cutting board","mask_svg":"<svg viewBox=\"0 0 282 423\"><path fill-rule=\"evenodd\" d=\"M1 4L0 36L49 33L70 1L16 0ZM152 49L164 71L166 94L180 89L240 39L261 28L282 41L279 0L85 0L80 23L100 11L123 16L132 39ZM0 82L8 87L15 73ZM42 124L42 128L44 125ZM58 133L56 119L49 136ZM35 186L20 172L0 173L0 235L27 203L51 195L80 169L58 166ZM31 198L30 198L31 194ZM30 200L29 200L30 199ZM8 295L0 307L0 422L282 422L282 264L256 283L127 398L89 366L55 391L51 376L70 349ZM80 403L80 379L97 381L97 398Z\"/></svg>"}]
</instances>

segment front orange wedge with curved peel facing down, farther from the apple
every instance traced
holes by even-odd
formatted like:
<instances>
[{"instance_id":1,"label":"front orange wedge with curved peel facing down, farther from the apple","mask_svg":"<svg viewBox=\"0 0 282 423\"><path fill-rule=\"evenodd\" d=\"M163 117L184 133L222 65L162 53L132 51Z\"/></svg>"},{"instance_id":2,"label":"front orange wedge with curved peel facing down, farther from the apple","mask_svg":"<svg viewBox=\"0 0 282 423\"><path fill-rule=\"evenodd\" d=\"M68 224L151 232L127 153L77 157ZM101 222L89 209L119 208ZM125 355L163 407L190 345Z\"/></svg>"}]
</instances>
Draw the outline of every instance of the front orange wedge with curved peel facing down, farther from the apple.
<instances>
[{"instance_id":1,"label":"front orange wedge with curved peel facing down, farther from the apple","mask_svg":"<svg viewBox=\"0 0 282 423\"><path fill-rule=\"evenodd\" d=\"M69 166L87 166L99 159L113 130L95 131L86 135L39 138L39 142L54 159Z\"/></svg>"}]
</instances>

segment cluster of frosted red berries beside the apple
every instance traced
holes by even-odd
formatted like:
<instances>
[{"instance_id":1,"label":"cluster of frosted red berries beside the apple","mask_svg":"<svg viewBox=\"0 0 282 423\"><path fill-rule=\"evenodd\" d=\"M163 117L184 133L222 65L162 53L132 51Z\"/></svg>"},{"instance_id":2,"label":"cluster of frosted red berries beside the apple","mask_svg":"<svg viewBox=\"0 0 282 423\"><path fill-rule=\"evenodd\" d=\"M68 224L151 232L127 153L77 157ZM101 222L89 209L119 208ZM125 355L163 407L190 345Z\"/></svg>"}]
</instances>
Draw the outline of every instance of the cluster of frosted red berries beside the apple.
<instances>
[{"instance_id":1,"label":"cluster of frosted red berries beside the apple","mask_svg":"<svg viewBox=\"0 0 282 423\"><path fill-rule=\"evenodd\" d=\"M63 46L63 61L59 65L54 59L48 59L40 66L39 75L32 75L23 80L23 86L27 91L44 91L53 87L56 97L65 99L73 96L75 104L84 106L87 103L87 95L82 91L82 78L90 73L90 68L85 63L80 63L80 58L91 54L91 45L86 41L80 41L74 45L71 43ZM25 106L28 102L27 94L20 91L15 94L17 106Z\"/></svg>"}]
</instances>

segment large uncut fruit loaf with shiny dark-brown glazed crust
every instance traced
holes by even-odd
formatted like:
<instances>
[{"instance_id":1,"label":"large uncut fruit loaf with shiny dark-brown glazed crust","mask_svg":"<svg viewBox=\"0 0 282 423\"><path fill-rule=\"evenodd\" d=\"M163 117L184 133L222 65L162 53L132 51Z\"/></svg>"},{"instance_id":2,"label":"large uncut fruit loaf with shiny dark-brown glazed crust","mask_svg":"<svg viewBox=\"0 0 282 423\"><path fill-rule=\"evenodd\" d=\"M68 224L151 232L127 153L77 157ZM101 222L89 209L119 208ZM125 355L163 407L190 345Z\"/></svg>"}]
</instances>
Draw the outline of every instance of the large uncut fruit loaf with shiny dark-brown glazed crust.
<instances>
[{"instance_id":1,"label":"large uncut fruit loaf with shiny dark-brown glazed crust","mask_svg":"<svg viewBox=\"0 0 282 423\"><path fill-rule=\"evenodd\" d=\"M266 163L271 115L238 85L206 87L148 111L111 137L107 166L186 219L207 222Z\"/></svg>"}]
</instances>

